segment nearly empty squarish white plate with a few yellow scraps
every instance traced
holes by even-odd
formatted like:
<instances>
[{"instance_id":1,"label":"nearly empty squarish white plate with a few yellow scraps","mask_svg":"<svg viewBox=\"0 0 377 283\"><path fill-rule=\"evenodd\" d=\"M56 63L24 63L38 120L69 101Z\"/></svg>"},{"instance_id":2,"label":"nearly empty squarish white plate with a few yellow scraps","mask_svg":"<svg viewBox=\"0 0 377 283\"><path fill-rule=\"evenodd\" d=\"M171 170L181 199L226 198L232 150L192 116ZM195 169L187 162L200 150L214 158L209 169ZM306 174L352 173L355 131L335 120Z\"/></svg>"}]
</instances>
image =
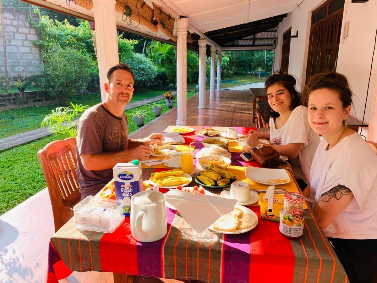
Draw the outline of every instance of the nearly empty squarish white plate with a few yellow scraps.
<instances>
[{"instance_id":1,"label":"nearly empty squarish white plate with a few yellow scraps","mask_svg":"<svg viewBox=\"0 0 377 283\"><path fill-rule=\"evenodd\" d=\"M291 179L285 169L271 169L271 168L257 168L247 166L245 175L250 180L264 185L283 185L290 183ZM269 180L287 180L278 183L273 183Z\"/></svg>"}]
</instances>

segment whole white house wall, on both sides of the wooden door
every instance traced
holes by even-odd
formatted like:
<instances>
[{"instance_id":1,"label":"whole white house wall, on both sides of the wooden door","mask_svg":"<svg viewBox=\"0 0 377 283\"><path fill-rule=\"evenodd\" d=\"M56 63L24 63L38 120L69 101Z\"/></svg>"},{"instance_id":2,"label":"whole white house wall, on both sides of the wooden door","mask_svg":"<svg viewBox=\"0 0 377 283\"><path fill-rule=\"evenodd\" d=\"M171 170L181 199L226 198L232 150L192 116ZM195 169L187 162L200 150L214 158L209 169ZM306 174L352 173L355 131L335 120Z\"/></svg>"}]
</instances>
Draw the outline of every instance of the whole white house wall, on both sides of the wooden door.
<instances>
[{"instance_id":1,"label":"whole white house wall, on both sides of the wooden door","mask_svg":"<svg viewBox=\"0 0 377 283\"><path fill-rule=\"evenodd\" d=\"M302 90L305 83L310 35L311 11L318 8L325 0L305 0L290 16L278 26L278 43L274 69L279 69L281 62L282 34L290 26L299 31L297 38L291 38L288 72L297 77L297 89ZM337 72L348 78L354 97L354 113L362 120L371 67L375 31L377 28L377 1L351 3L346 0L343 11L342 34L344 25L349 22L348 37L340 40ZM278 50L279 49L279 50ZM368 102L364 122L369 124L368 140L377 141L377 50L369 86Z\"/></svg>"}]
</instances>

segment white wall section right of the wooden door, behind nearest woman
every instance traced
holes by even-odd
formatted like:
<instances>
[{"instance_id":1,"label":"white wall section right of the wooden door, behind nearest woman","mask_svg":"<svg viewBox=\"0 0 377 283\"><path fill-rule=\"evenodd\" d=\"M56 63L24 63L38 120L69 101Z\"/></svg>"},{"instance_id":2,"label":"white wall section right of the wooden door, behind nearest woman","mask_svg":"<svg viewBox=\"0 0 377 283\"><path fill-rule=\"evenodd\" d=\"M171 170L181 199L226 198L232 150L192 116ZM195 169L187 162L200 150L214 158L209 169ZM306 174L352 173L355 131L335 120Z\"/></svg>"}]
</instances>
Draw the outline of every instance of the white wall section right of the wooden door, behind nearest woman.
<instances>
[{"instance_id":1,"label":"white wall section right of the wooden door, behind nearest woman","mask_svg":"<svg viewBox=\"0 0 377 283\"><path fill-rule=\"evenodd\" d=\"M340 35L338 66L336 71L344 74L354 92L355 116L362 120L365 108L366 91L371 71L372 53L377 28L377 1L351 3L346 0L342 33ZM349 22L348 36L342 40L344 25ZM364 122L369 124L368 140L377 141L377 109L375 106L377 92L377 50L369 84L368 100Z\"/></svg>"}]
</instances>

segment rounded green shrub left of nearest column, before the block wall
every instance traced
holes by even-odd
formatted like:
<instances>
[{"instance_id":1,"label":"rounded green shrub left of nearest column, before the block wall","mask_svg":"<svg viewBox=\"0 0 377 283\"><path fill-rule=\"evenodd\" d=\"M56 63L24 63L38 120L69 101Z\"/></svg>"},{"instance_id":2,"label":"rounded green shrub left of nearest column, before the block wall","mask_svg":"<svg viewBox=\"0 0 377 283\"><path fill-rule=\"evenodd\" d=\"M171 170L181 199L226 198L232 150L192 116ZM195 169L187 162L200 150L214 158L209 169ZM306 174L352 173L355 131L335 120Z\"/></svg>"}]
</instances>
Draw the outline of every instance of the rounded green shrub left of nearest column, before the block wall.
<instances>
[{"instance_id":1,"label":"rounded green shrub left of nearest column, before the block wall","mask_svg":"<svg viewBox=\"0 0 377 283\"><path fill-rule=\"evenodd\" d=\"M61 105L67 105L71 95L85 91L95 65L90 56L54 45L43 57L43 83L51 97L56 97Z\"/></svg>"}]
</instances>

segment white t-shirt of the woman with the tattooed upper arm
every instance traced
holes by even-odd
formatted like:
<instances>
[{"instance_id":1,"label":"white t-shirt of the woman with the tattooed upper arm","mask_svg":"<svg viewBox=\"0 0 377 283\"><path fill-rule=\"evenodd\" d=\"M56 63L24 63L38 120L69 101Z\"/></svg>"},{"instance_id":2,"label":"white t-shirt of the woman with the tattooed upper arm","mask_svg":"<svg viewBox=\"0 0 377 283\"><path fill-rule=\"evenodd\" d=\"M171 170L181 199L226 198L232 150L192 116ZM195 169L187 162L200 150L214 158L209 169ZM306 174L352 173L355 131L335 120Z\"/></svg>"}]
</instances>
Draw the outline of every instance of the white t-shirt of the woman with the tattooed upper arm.
<instances>
[{"instance_id":1,"label":"white t-shirt of the woman with the tattooed upper arm","mask_svg":"<svg viewBox=\"0 0 377 283\"><path fill-rule=\"evenodd\" d=\"M326 151L327 146L323 139L311 166L312 208L337 185L350 189L354 198L323 231L333 238L377 239L377 156L357 133Z\"/></svg>"}]
</instances>

